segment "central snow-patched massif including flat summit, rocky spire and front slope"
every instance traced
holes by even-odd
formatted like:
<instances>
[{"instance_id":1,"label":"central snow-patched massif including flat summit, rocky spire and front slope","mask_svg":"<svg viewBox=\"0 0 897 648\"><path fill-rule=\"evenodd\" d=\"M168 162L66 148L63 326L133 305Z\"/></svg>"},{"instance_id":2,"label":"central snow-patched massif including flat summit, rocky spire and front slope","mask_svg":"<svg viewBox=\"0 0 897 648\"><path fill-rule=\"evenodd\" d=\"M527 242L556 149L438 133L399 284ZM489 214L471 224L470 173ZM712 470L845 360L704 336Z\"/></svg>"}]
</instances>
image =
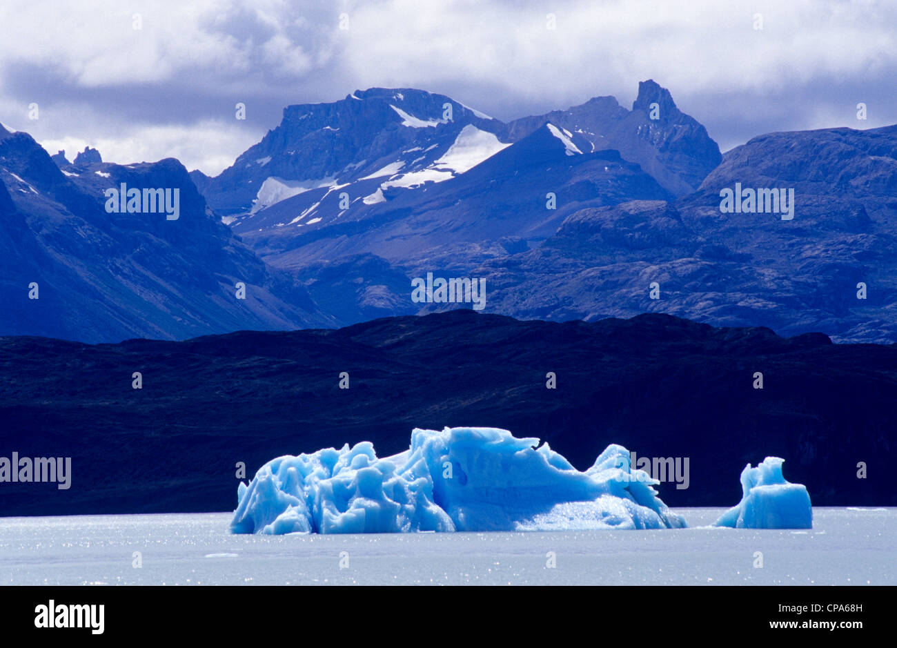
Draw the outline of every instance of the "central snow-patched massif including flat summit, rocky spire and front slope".
<instances>
[{"instance_id":1,"label":"central snow-patched massif including flat summit, rocky spire and front slope","mask_svg":"<svg viewBox=\"0 0 897 648\"><path fill-rule=\"evenodd\" d=\"M379 314L414 311L397 276L535 248L581 208L671 200L719 159L653 81L631 110L601 97L508 124L445 95L374 88L288 107L230 169L192 176L267 263L297 272L335 311L354 308L355 321L372 296ZM319 276L351 274L353 258L382 271L341 293L353 305L335 304Z\"/></svg>"}]
</instances>

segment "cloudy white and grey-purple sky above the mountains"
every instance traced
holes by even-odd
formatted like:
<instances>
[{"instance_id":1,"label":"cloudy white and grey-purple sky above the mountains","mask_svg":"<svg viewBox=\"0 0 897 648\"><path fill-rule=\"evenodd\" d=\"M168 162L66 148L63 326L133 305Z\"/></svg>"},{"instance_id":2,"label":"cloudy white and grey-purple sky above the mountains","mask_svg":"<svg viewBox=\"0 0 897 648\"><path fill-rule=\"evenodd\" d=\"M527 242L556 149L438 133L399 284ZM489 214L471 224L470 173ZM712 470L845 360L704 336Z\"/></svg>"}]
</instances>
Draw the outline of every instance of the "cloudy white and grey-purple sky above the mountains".
<instances>
[{"instance_id":1,"label":"cloudy white and grey-purple sky above the mountains","mask_svg":"<svg viewBox=\"0 0 897 648\"><path fill-rule=\"evenodd\" d=\"M897 123L897 2L0 3L0 122L69 159L90 144L109 162L173 156L217 174L291 103L415 87L509 119L597 95L629 107L648 78L724 151L774 130Z\"/></svg>"}]
</instances>

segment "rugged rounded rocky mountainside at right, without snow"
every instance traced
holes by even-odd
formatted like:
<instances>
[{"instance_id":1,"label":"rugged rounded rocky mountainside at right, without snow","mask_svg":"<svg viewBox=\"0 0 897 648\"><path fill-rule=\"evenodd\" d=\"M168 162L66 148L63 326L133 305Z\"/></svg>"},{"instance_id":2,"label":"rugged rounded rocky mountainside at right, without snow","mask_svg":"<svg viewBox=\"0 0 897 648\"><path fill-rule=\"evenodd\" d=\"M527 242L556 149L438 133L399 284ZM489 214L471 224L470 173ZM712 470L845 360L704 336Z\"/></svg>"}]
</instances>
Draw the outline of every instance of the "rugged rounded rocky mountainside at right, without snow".
<instances>
[{"instance_id":1,"label":"rugged rounded rocky mountainside at right, without snow","mask_svg":"<svg viewBox=\"0 0 897 648\"><path fill-rule=\"evenodd\" d=\"M793 188L794 218L727 214L720 191ZM536 250L472 271L487 310L548 320L666 312L838 341L897 340L897 127L755 138L701 189L570 215ZM657 282L659 299L651 299Z\"/></svg>"}]
</instances>

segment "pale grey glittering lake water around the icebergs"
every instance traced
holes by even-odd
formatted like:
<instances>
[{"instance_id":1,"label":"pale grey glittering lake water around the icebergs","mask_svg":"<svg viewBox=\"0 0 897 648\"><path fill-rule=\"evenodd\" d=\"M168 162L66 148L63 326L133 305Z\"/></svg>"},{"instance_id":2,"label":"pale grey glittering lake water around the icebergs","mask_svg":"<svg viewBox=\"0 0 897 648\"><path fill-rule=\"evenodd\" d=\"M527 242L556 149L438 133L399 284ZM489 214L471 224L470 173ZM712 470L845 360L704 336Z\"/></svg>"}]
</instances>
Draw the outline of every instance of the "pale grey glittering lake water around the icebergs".
<instances>
[{"instance_id":1,"label":"pale grey glittering lake water around the icebergs","mask_svg":"<svg viewBox=\"0 0 897 648\"><path fill-rule=\"evenodd\" d=\"M231 513L0 518L0 584L897 584L897 508L699 528L723 510L676 509L681 530L348 536L235 536Z\"/></svg>"}]
</instances>

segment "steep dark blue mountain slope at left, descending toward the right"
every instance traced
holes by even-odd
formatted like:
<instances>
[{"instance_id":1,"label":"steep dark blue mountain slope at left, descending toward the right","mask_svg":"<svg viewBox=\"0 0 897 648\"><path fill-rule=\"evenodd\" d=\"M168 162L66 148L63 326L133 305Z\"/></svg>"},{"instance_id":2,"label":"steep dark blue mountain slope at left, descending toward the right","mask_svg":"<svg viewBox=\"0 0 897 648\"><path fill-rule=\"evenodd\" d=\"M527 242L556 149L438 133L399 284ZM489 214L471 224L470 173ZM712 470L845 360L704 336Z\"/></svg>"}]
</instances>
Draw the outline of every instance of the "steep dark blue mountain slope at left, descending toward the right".
<instances>
[{"instance_id":1,"label":"steep dark blue mountain slope at left, descending toward the right","mask_svg":"<svg viewBox=\"0 0 897 648\"><path fill-rule=\"evenodd\" d=\"M63 172L26 133L0 134L0 333L109 342L332 323L211 214L177 160L91 159ZM179 219L108 213L104 192L122 183L177 190Z\"/></svg>"}]
</instances>

